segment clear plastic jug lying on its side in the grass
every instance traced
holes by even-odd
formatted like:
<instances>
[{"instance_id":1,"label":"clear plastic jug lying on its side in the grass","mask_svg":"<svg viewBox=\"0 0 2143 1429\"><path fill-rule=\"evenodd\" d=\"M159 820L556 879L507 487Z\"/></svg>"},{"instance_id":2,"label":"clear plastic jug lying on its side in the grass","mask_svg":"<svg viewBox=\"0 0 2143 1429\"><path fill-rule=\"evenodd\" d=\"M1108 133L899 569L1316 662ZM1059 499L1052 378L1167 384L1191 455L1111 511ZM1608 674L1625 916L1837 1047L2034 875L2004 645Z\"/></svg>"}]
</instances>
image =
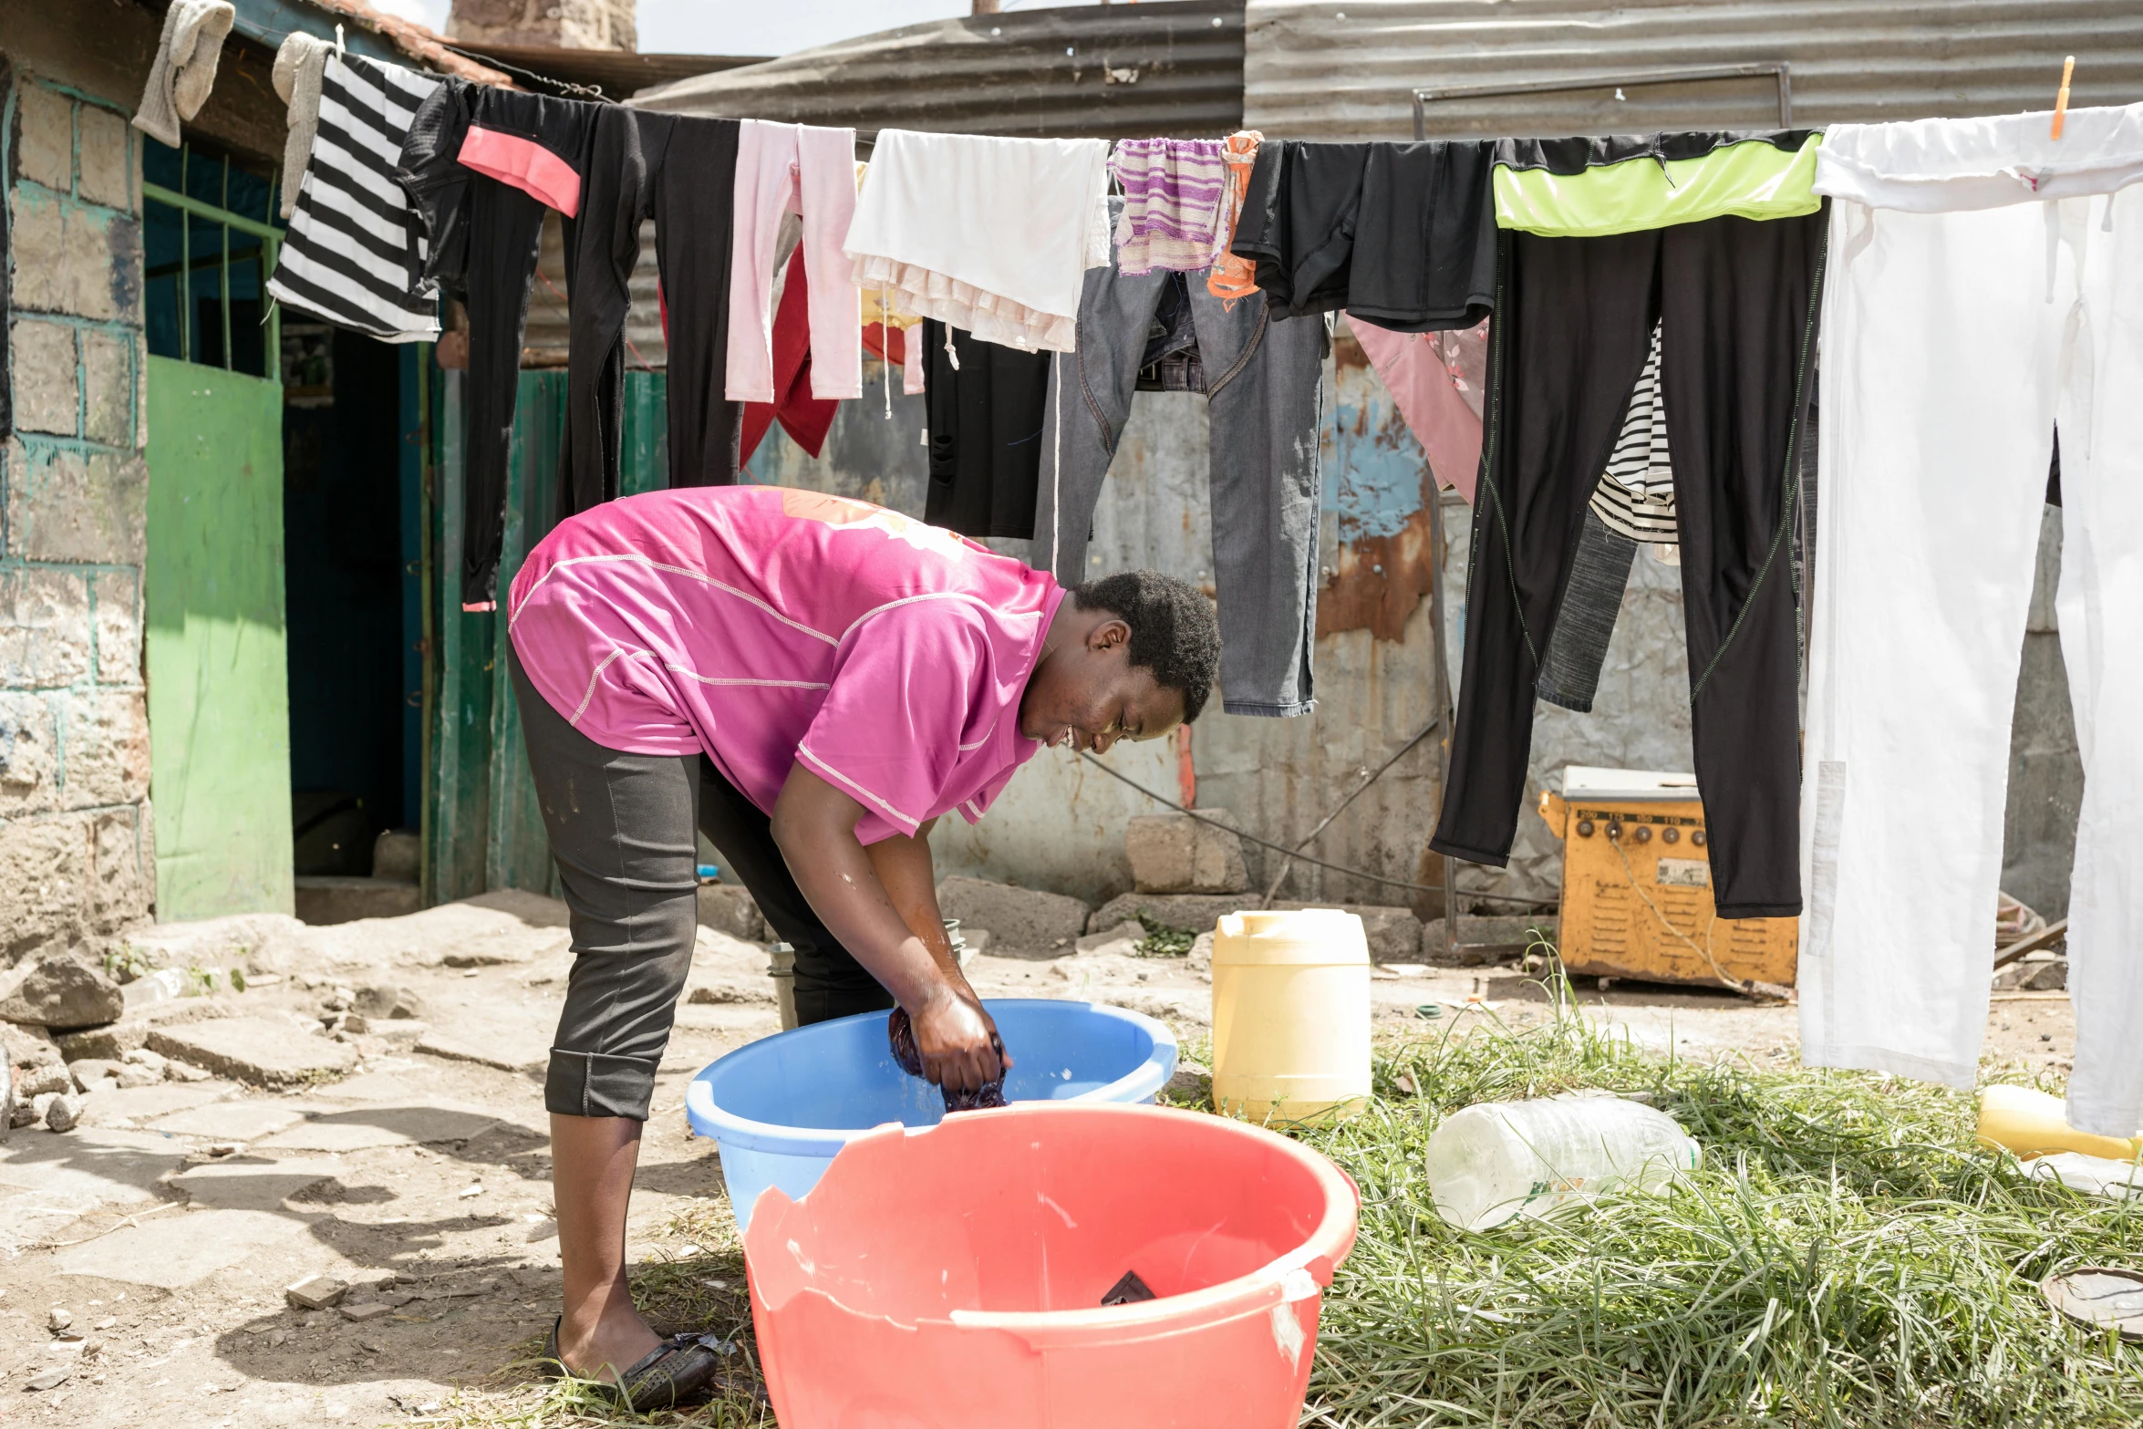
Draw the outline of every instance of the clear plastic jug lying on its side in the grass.
<instances>
[{"instance_id":1,"label":"clear plastic jug lying on its side in the grass","mask_svg":"<svg viewBox=\"0 0 2143 1429\"><path fill-rule=\"evenodd\" d=\"M1429 1195L1459 1230L1545 1219L1616 1189L1665 1191L1702 1161L1667 1116L1612 1093L1481 1101L1429 1138Z\"/></svg>"}]
</instances>

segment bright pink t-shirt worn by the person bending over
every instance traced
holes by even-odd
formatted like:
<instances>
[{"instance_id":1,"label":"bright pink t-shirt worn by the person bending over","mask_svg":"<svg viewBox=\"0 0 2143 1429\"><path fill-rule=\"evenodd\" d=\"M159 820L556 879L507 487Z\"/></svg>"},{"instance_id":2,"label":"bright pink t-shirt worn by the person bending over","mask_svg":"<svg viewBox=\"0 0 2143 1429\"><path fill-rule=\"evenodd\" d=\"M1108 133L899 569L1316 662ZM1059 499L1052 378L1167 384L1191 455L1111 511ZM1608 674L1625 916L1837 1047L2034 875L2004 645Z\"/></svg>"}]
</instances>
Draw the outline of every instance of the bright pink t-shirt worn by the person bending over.
<instances>
[{"instance_id":1,"label":"bright pink t-shirt worn by the person bending over","mask_svg":"<svg viewBox=\"0 0 2143 1429\"><path fill-rule=\"evenodd\" d=\"M864 803L868 844L981 818L1041 748L1020 694L1061 600L1048 574L866 501L686 486L559 523L508 613L529 681L596 743L705 750L769 812L804 761Z\"/></svg>"}]
</instances>

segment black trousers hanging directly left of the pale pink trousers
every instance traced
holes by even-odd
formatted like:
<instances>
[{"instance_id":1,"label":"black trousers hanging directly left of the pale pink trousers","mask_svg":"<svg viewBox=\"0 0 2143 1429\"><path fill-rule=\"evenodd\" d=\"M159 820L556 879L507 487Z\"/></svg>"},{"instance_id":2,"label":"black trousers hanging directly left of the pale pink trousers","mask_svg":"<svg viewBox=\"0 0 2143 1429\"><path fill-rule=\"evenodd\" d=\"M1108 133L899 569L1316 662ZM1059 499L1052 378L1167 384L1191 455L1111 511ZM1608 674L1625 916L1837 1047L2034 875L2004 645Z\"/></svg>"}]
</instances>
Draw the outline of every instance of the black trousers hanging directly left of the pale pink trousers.
<instances>
[{"instance_id":1,"label":"black trousers hanging directly left of the pale pink trousers","mask_svg":"<svg viewBox=\"0 0 2143 1429\"><path fill-rule=\"evenodd\" d=\"M656 221L669 343L669 484L737 480L741 409L726 396L729 251L737 120L609 105L596 114L576 240L568 242L572 354L566 368L570 480L561 516L617 495L626 313L641 223Z\"/></svg>"}]
</instances>

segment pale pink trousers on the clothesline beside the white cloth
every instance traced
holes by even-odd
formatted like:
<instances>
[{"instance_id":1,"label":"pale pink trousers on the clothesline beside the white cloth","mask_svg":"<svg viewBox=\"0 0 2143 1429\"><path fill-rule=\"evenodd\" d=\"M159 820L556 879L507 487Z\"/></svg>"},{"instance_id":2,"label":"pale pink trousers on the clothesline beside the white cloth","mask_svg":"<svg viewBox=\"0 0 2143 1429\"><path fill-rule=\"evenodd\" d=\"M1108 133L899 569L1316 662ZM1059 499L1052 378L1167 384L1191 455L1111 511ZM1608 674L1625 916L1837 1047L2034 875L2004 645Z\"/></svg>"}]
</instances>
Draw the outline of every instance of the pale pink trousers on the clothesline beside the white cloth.
<instances>
[{"instance_id":1,"label":"pale pink trousers on the clothesline beside the white cloth","mask_svg":"<svg viewBox=\"0 0 2143 1429\"><path fill-rule=\"evenodd\" d=\"M782 214L804 219L799 253L810 272L810 396L864 394L864 300L840 251L855 219L855 131L741 120L737 131L735 244L729 270L729 398L771 403L774 261Z\"/></svg>"}]
</instances>

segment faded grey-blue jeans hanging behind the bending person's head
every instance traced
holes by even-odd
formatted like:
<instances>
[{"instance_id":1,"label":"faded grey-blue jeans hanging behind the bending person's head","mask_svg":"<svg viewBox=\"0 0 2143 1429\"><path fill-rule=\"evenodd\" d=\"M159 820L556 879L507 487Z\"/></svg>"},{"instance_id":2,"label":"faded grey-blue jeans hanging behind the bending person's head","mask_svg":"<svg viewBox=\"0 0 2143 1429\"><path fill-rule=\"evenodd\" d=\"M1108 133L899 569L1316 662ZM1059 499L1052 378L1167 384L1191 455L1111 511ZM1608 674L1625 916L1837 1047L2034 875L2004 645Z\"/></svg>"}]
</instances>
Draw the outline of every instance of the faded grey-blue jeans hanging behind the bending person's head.
<instances>
[{"instance_id":1,"label":"faded grey-blue jeans hanging behind the bending person's head","mask_svg":"<svg viewBox=\"0 0 2143 1429\"><path fill-rule=\"evenodd\" d=\"M1091 268L1078 351L1050 371L1033 566L1065 585L1106 574L1087 568L1087 527L1132 416L1147 332L1172 283L1174 274L1164 270L1127 276L1114 264ZM1230 311L1202 276L1185 287L1211 428L1222 709L1309 713L1324 321L1314 315L1279 321L1262 302L1234 302Z\"/></svg>"}]
</instances>

